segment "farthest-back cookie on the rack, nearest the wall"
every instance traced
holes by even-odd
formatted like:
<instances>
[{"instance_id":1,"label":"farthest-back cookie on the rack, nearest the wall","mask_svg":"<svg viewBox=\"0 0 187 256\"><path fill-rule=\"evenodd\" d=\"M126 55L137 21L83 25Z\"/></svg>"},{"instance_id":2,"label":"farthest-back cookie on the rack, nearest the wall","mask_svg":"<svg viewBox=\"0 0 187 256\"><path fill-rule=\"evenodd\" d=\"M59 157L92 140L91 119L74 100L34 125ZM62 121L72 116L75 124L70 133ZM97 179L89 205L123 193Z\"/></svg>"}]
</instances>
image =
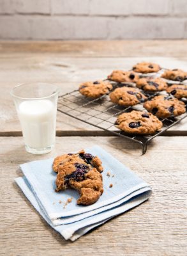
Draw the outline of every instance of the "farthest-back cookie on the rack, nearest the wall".
<instances>
[{"instance_id":1,"label":"farthest-back cookie on the rack, nearest the wall","mask_svg":"<svg viewBox=\"0 0 187 256\"><path fill-rule=\"evenodd\" d=\"M158 64L151 63L151 62L140 62L137 65L133 66L133 70L139 73L153 73L158 72L161 67Z\"/></svg>"}]
</instances>

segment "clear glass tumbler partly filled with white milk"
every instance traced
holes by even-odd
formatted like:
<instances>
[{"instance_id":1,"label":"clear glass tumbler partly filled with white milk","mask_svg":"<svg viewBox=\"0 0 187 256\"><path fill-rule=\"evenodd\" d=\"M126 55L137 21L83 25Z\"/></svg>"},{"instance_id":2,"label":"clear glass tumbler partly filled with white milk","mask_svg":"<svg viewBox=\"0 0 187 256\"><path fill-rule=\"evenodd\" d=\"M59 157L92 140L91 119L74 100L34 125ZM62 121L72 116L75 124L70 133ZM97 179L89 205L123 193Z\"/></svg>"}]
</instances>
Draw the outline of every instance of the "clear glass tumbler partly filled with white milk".
<instances>
[{"instance_id":1,"label":"clear glass tumbler partly filled with white milk","mask_svg":"<svg viewBox=\"0 0 187 256\"><path fill-rule=\"evenodd\" d=\"M45 154L56 139L59 90L54 84L19 84L11 90L19 116L27 152Z\"/></svg>"}]
</instances>

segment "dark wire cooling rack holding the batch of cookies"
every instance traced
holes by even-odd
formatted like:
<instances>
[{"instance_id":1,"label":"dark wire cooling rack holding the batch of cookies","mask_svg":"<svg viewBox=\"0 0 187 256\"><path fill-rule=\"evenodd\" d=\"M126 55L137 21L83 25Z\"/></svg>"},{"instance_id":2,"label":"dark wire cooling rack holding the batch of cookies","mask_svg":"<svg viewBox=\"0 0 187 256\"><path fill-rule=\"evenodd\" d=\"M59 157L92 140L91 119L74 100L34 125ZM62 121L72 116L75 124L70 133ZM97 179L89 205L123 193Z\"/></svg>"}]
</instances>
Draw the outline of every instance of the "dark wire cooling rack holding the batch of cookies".
<instances>
[{"instance_id":1,"label":"dark wire cooling rack holding the batch of cookies","mask_svg":"<svg viewBox=\"0 0 187 256\"><path fill-rule=\"evenodd\" d=\"M114 88L118 86L131 86L131 84L115 84ZM144 94L146 94L144 92ZM160 93L147 94L148 99L154 97ZM131 141L136 141L142 145L142 154L145 154L147 151L147 144L149 141L153 140L156 136L159 136L165 132L170 127L179 123L182 119L187 116L187 102L186 104L186 113L181 116L176 116L174 118L163 118L160 119L163 123L163 127L160 131L156 132L153 135L141 136L141 135L132 135L123 132L115 126L117 116L121 113L130 112L134 110L145 110L142 104L135 105L133 107L124 108L118 106L110 101L108 95L103 95L98 99L88 99L79 93L79 90L74 90L73 92L66 93L59 97L58 108L57 110L61 113L64 113L68 116L71 116L77 120L85 122L86 124L93 125L99 129L111 132L115 136L121 136L127 138Z\"/></svg>"}]
</instances>

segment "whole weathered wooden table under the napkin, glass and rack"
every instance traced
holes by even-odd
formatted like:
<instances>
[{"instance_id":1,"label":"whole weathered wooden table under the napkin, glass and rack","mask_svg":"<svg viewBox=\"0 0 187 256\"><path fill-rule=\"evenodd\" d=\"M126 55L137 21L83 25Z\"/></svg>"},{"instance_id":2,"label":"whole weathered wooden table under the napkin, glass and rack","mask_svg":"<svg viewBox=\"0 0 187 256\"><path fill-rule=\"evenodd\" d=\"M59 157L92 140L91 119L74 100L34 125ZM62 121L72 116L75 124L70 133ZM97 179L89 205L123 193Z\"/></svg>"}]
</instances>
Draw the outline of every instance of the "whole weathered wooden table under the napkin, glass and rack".
<instances>
[{"instance_id":1,"label":"whole weathered wooden table under the napkin, glass and rack","mask_svg":"<svg viewBox=\"0 0 187 256\"><path fill-rule=\"evenodd\" d=\"M65 93L82 81L102 79L115 68L142 60L187 70L186 49L186 40L0 42L0 255L186 255L187 120L155 138L141 156L136 143L58 113L56 149L33 156L24 149L10 98L19 83L45 81ZM140 175L153 195L71 243L45 223L13 179L22 175L20 163L76 151L88 141Z\"/></svg>"}]
</instances>

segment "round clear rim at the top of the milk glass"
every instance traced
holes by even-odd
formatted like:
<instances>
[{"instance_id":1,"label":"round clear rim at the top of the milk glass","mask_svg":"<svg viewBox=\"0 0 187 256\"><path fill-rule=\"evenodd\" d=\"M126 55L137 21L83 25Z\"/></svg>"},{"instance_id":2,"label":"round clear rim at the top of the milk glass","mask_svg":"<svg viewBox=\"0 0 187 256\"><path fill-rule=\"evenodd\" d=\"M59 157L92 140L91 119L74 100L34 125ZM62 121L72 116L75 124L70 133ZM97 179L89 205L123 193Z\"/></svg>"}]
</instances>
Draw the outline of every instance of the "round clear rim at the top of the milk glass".
<instances>
[{"instance_id":1,"label":"round clear rim at the top of the milk glass","mask_svg":"<svg viewBox=\"0 0 187 256\"><path fill-rule=\"evenodd\" d=\"M44 96L44 97L34 97L34 98L27 98L27 97L20 97L18 95L16 95L14 93L14 91L16 90L16 88L21 87L21 86L26 86L27 84L35 84L35 83L40 83L40 84L50 84L52 86L55 87L55 92L51 93L48 96ZM55 84L51 84L51 83L44 83L44 82L33 82L33 83L22 83L22 84L17 84L15 87L13 87L10 91L10 95L11 97L17 98L17 99L22 99L22 100L41 100L41 99L49 99L50 97L56 95L59 93L59 87Z\"/></svg>"}]
</instances>

